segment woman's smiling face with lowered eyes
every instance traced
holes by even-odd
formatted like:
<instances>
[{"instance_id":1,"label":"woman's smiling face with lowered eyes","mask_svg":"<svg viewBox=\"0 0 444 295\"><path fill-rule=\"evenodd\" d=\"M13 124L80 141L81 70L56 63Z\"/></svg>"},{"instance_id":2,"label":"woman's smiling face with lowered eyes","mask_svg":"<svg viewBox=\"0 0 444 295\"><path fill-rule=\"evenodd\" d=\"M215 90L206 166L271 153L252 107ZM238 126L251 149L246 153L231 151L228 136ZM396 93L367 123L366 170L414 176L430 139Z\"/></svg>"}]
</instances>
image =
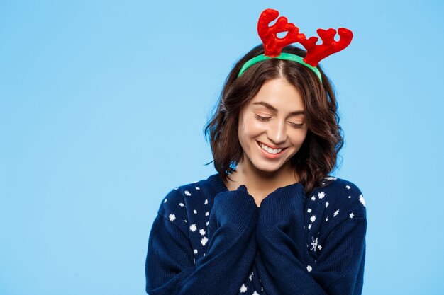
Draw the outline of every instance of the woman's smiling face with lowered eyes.
<instances>
[{"instance_id":1,"label":"woman's smiling face with lowered eyes","mask_svg":"<svg viewBox=\"0 0 444 295\"><path fill-rule=\"evenodd\" d=\"M245 165L279 170L299 151L307 129L297 88L284 79L265 81L240 112L238 137Z\"/></svg>"}]
</instances>

